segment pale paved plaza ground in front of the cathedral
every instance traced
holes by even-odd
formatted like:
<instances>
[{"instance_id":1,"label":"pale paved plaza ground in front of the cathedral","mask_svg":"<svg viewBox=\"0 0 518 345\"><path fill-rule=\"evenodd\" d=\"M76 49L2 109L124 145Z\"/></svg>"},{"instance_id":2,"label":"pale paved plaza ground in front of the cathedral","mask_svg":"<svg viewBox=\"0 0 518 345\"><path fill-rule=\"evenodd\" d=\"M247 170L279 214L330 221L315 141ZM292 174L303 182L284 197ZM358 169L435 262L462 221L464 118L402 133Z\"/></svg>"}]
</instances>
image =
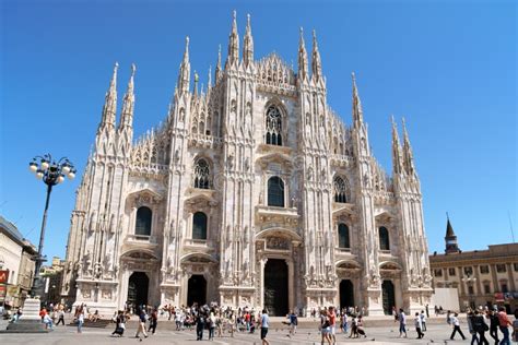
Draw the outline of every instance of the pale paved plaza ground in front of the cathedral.
<instances>
[{"instance_id":1,"label":"pale paved plaza ground in front of the cathedral","mask_svg":"<svg viewBox=\"0 0 518 345\"><path fill-rule=\"evenodd\" d=\"M141 344L198 344L196 341L195 330L186 331L172 331L169 325L166 325L168 321L160 321L156 334L150 335L148 338L143 338ZM162 325L162 329L161 329ZM5 329L5 321L0 322L0 329ZM464 335L468 334L466 324L462 326ZM101 344L140 344L138 338L134 338L136 326L130 323L126 330L122 338L111 337L110 333L113 328L106 329L92 329L84 328L82 334L78 334L74 326L57 326L54 332L48 334L0 334L0 344L38 344L38 345L101 345ZM449 341L449 334L451 329L447 324L431 324L427 332L425 333L424 340L416 340L416 333L413 329L409 331L408 338L400 338L398 332L398 325L385 325L385 326L373 326L366 328L367 338L353 340L346 337L344 334L337 334L337 344L468 344L469 340L462 341L460 337L456 341ZM261 344L259 333L235 333L234 337L231 337L228 333L224 334L223 337L216 337L213 342L208 341L208 331L204 332L204 340L199 342L200 344ZM271 329L269 332L268 340L270 344L320 344L319 334L316 329L301 329L297 334L290 338L286 336L287 330Z\"/></svg>"}]
</instances>

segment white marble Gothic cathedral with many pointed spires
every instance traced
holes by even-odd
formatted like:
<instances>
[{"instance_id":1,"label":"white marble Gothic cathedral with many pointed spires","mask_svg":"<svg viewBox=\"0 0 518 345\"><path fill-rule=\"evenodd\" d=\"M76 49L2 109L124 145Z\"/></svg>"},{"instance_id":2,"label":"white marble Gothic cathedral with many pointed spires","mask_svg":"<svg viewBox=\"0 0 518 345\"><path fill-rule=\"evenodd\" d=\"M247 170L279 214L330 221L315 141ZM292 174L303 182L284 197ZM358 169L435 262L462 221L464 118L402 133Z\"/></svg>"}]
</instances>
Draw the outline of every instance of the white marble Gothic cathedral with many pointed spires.
<instances>
[{"instance_id":1,"label":"white marble Gothic cathedral with many pointed spires","mask_svg":"<svg viewBox=\"0 0 518 345\"><path fill-rule=\"evenodd\" d=\"M207 91L187 38L167 118L133 142L132 67L116 123L117 68L76 191L62 297L102 313L126 304L267 307L271 314L429 302L420 180L392 124L392 177L372 155L353 75L352 126L327 103L313 35L298 69L239 55L236 16ZM211 80L214 80L213 84ZM134 114L138 117L138 114Z\"/></svg>"}]
</instances>

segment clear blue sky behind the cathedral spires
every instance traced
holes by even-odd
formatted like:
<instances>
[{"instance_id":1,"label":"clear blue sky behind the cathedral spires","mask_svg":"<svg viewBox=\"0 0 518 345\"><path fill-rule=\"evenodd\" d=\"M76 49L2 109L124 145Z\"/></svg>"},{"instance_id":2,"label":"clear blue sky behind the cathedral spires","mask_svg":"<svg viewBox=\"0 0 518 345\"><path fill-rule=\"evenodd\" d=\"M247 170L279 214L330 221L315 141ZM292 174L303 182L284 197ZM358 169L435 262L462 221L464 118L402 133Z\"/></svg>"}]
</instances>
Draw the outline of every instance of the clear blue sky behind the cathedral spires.
<instances>
[{"instance_id":1,"label":"clear blue sky behind the cathedral spires","mask_svg":"<svg viewBox=\"0 0 518 345\"><path fill-rule=\"evenodd\" d=\"M508 212L518 238L516 1L213 2L1 2L0 213L34 243L45 186L31 158L68 156L82 174L115 61L119 106L137 63L136 136L156 126L185 36L207 84L233 9L240 39L251 14L256 59L276 51L296 68L298 27L309 46L316 28L329 104L351 123L355 71L370 145L389 172L389 118L407 118L431 252L444 250L447 211L463 250L510 242ZM49 257L64 257L81 174L52 192Z\"/></svg>"}]
</instances>

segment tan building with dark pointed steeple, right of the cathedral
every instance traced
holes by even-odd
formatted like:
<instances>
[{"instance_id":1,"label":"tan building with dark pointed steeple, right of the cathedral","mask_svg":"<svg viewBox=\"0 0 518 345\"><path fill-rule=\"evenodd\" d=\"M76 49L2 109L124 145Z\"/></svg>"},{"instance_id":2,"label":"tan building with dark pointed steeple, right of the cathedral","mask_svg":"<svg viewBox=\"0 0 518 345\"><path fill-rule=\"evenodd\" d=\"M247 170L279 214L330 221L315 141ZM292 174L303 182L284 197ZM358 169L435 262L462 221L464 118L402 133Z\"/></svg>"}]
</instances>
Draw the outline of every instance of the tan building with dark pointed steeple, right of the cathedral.
<instances>
[{"instance_id":1,"label":"tan building with dark pointed steeple, right of the cathedral","mask_svg":"<svg viewBox=\"0 0 518 345\"><path fill-rule=\"evenodd\" d=\"M503 305L510 313L518 308L518 243L462 251L449 219L445 240L445 253L429 257L434 288L456 287L462 309Z\"/></svg>"}]
</instances>

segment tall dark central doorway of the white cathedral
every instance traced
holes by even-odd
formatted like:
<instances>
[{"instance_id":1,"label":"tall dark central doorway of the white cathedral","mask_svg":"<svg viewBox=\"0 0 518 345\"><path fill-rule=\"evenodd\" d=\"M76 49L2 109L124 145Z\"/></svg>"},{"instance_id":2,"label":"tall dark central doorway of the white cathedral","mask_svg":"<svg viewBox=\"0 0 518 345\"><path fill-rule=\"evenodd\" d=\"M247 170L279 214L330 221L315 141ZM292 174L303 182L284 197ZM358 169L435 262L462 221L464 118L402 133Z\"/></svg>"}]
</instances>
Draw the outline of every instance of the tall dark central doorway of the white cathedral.
<instances>
[{"instance_id":1,"label":"tall dark central doorway of the white cathedral","mask_svg":"<svg viewBox=\"0 0 518 345\"><path fill-rule=\"evenodd\" d=\"M264 308L272 317L287 314L287 264L281 259L268 259L264 266Z\"/></svg>"}]
</instances>

